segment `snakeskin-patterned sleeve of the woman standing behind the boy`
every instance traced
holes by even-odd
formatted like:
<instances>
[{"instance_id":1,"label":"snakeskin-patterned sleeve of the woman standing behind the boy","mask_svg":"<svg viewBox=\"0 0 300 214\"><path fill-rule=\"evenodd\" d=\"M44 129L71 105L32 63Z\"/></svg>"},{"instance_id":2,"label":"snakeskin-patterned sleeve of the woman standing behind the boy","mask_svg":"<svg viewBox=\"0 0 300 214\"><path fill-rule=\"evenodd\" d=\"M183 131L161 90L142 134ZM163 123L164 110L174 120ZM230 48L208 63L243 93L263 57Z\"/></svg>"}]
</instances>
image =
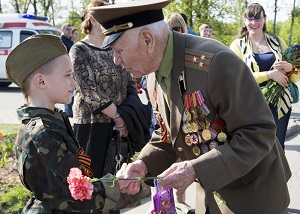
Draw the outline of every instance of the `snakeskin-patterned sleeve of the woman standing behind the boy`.
<instances>
[{"instance_id":1,"label":"snakeskin-patterned sleeve of the woman standing behind the boy","mask_svg":"<svg viewBox=\"0 0 300 214\"><path fill-rule=\"evenodd\" d=\"M79 45L74 45L70 50L74 78L77 82L76 90L80 90L85 103L91 111L99 108L106 108L111 104L111 100L105 93L101 92L99 83L96 82L96 73L93 66L98 66L90 62L91 56L88 50ZM100 62L99 62L100 63ZM100 65L99 65L100 66ZM101 78L101 77L98 77Z\"/></svg>"}]
</instances>

